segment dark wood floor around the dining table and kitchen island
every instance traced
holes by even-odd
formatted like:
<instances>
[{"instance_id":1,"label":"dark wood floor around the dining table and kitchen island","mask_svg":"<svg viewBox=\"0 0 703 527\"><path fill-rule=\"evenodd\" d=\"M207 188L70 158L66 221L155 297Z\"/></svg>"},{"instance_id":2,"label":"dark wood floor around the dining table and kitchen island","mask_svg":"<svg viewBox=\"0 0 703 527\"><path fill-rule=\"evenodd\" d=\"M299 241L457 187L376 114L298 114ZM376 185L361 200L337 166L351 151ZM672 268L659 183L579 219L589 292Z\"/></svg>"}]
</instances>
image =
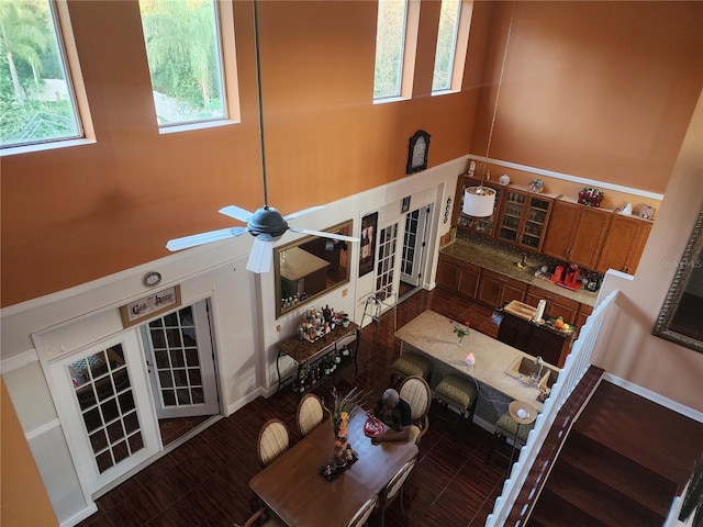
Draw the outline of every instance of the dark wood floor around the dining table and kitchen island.
<instances>
[{"instance_id":1,"label":"dark wood floor around the dining table and kitchen island","mask_svg":"<svg viewBox=\"0 0 703 527\"><path fill-rule=\"evenodd\" d=\"M421 291L397 310L398 327L432 309L491 336L498 326L491 311L460 301L446 292ZM387 388L390 363L398 356L393 339L393 313L362 330L359 370L347 367L334 380L343 391L358 385L380 396ZM315 392L328 396L332 382ZM119 487L100 497L98 513L81 527L219 527L243 524L252 512L249 479L259 470L256 440L261 425L271 417L286 422L292 442L299 436L294 425L298 397L289 388L269 399L259 397L227 418L175 449ZM429 430L423 438L420 462L411 486L406 517L398 504L386 515L388 527L482 526L500 495L507 461L483 460L492 436L478 426L457 428L456 414L433 407ZM301 470L315 468L301 467ZM320 527L324 527L320 518ZM371 527L380 525L372 516ZM317 526L308 526L317 527Z\"/></svg>"}]
</instances>

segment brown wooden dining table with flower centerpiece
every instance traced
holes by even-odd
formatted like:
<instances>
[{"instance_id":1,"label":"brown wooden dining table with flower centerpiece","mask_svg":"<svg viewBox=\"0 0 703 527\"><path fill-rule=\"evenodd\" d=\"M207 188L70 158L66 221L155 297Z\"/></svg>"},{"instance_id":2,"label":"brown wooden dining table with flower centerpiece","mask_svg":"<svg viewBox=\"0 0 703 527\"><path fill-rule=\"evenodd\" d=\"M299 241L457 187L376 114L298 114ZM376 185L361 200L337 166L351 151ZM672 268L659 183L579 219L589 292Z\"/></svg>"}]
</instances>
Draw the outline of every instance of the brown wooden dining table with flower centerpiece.
<instances>
[{"instance_id":1,"label":"brown wooden dining table with flower centerpiece","mask_svg":"<svg viewBox=\"0 0 703 527\"><path fill-rule=\"evenodd\" d=\"M335 437L327 419L252 478L249 487L289 527L345 527L417 456L412 441L373 445L364 434L366 419L366 411L358 408L347 427L347 442L358 459L331 480L320 473L333 458Z\"/></svg>"}]
</instances>

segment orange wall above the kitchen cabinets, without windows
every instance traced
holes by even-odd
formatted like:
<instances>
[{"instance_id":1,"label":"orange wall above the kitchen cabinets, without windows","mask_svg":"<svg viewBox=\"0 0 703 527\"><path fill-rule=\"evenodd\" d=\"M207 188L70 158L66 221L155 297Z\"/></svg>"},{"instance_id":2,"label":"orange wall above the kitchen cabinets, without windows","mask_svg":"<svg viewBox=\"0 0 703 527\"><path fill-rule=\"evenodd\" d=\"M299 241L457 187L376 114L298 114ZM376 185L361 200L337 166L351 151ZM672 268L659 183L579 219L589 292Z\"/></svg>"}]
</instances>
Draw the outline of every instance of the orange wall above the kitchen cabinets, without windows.
<instances>
[{"instance_id":1,"label":"orange wall above the kitchen cabinets, without windows","mask_svg":"<svg viewBox=\"0 0 703 527\"><path fill-rule=\"evenodd\" d=\"M512 8L496 4L476 155ZM703 87L702 26L698 1L517 2L490 157L663 193Z\"/></svg>"}]
</instances>

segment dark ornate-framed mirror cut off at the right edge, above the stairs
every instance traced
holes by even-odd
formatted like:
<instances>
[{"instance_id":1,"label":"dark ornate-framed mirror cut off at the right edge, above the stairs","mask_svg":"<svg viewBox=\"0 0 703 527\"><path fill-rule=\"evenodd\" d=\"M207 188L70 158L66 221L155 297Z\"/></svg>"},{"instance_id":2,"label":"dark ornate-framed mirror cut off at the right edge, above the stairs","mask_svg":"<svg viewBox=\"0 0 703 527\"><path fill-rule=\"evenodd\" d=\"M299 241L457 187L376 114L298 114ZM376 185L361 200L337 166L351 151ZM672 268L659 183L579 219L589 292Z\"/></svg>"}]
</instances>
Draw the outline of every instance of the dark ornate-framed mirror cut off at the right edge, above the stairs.
<instances>
[{"instance_id":1,"label":"dark ornate-framed mirror cut off at the right edge, above the stairs","mask_svg":"<svg viewBox=\"0 0 703 527\"><path fill-rule=\"evenodd\" d=\"M651 334L703 352L703 211Z\"/></svg>"}]
</instances>

